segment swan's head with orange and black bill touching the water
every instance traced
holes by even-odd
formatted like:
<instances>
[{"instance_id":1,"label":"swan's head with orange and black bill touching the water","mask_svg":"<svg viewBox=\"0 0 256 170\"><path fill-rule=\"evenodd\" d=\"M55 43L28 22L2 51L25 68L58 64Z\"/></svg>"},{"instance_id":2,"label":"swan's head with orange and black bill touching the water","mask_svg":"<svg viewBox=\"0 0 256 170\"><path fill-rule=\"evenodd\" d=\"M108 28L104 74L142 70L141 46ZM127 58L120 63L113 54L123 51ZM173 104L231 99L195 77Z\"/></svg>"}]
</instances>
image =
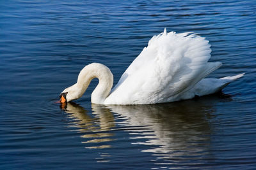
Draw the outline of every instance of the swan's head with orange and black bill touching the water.
<instances>
[{"instance_id":1,"label":"swan's head with orange and black bill touching the water","mask_svg":"<svg viewBox=\"0 0 256 170\"><path fill-rule=\"evenodd\" d=\"M74 84L67 89L63 90L60 94L60 102L66 103L70 102L72 100L79 99L81 96L83 96L83 92L81 92L81 88L77 87L77 84Z\"/></svg>"}]
</instances>

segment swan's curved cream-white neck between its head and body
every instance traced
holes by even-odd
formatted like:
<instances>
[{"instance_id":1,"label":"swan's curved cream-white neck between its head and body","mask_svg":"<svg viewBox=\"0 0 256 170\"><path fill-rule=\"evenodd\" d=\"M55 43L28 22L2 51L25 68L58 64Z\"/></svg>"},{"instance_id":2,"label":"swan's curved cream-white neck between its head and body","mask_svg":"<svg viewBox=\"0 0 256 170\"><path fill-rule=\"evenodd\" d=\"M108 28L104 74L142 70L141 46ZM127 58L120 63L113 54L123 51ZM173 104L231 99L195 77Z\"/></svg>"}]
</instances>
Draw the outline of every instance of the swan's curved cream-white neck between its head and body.
<instances>
[{"instance_id":1,"label":"swan's curved cream-white neck between its head and body","mask_svg":"<svg viewBox=\"0 0 256 170\"><path fill-rule=\"evenodd\" d=\"M103 64L92 63L85 66L77 78L77 86L81 88L81 96L83 96L93 78L98 78L99 84L92 92L92 103L103 104L113 86L113 74Z\"/></svg>"}]
</instances>

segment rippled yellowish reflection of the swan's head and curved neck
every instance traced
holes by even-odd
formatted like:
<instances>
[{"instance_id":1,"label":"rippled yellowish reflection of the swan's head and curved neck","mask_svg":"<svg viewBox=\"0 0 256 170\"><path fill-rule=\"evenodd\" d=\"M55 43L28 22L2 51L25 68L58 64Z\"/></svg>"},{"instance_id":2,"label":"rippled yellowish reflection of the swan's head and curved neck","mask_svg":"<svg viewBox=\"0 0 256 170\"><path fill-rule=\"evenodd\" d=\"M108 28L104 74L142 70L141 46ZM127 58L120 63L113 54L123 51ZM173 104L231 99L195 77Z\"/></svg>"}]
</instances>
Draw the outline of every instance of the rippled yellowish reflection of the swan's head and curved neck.
<instances>
[{"instance_id":1,"label":"rippled yellowish reflection of the swan's head and curved neck","mask_svg":"<svg viewBox=\"0 0 256 170\"><path fill-rule=\"evenodd\" d=\"M81 138L86 140L82 143L96 143L95 146L88 146L86 148L109 148L110 145L97 145L108 141L113 141L113 133L111 128L115 127L113 114L105 106L97 105L92 109L93 115L88 115L88 111L76 103L61 104L61 109L74 121L68 127L76 127L79 132L83 133Z\"/></svg>"}]
</instances>

